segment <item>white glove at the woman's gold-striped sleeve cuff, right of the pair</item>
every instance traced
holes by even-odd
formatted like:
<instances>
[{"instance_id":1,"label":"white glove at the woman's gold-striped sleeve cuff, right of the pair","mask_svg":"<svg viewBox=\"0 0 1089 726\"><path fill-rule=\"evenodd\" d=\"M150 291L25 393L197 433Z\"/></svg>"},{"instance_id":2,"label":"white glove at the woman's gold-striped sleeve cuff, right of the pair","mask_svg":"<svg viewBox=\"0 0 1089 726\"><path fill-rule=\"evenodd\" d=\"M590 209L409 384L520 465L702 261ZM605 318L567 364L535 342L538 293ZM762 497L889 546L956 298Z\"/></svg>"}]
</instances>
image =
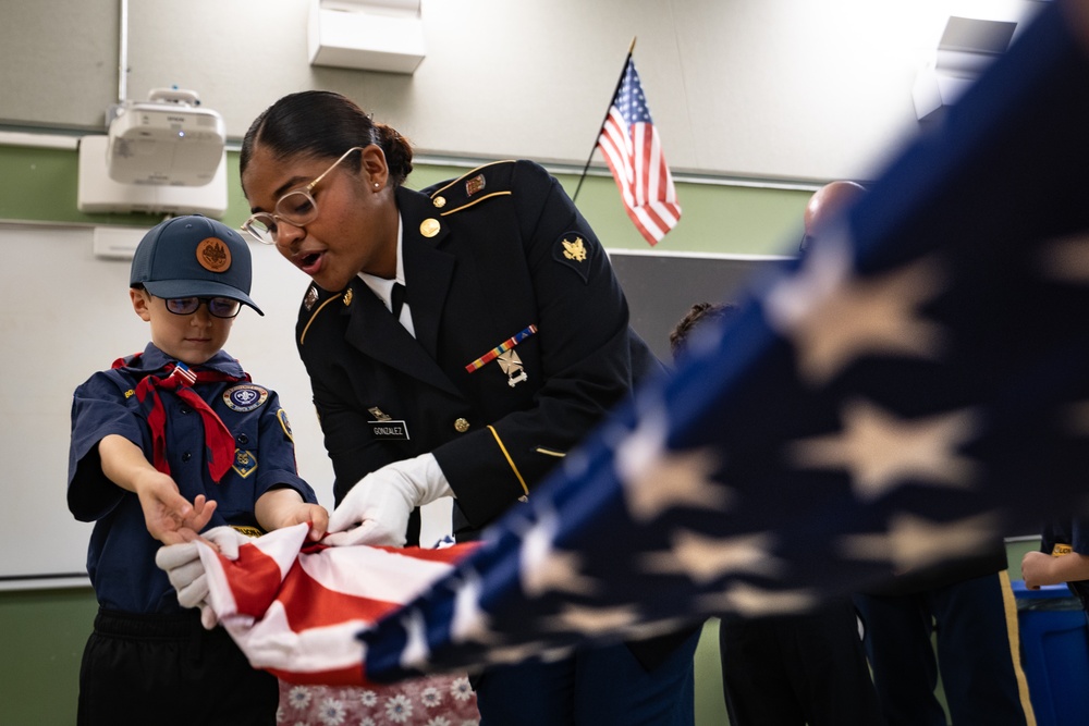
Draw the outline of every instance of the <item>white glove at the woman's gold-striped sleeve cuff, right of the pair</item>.
<instances>
[{"instance_id":1,"label":"white glove at the woman's gold-striped sleeve cuff, right of the pair","mask_svg":"<svg viewBox=\"0 0 1089 726\"><path fill-rule=\"evenodd\" d=\"M394 462L360 479L329 515L322 542L402 546L408 515L440 496L453 496L450 482L431 454Z\"/></svg>"}]
</instances>

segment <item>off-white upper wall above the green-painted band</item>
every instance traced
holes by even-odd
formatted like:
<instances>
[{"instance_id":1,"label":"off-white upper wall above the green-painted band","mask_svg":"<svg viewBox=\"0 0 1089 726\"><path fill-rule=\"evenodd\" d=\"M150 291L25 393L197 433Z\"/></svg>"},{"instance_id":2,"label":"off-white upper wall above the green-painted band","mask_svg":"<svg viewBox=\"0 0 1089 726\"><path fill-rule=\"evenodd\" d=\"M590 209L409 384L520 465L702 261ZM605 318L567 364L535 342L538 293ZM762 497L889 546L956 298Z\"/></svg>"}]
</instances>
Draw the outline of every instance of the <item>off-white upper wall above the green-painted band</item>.
<instances>
[{"instance_id":1,"label":"off-white upper wall above the green-painted band","mask_svg":"<svg viewBox=\"0 0 1089 726\"><path fill-rule=\"evenodd\" d=\"M869 179L916 131L915 72L971 0L423 0L413 76L310 66L307 2L132 0L127 97L194 89L238 138L281 95L328 88L421 153L580 165L637 37L675 173ZM120 4L0 0L0 123L101 131Z\"/></svg>"}]
</instances>

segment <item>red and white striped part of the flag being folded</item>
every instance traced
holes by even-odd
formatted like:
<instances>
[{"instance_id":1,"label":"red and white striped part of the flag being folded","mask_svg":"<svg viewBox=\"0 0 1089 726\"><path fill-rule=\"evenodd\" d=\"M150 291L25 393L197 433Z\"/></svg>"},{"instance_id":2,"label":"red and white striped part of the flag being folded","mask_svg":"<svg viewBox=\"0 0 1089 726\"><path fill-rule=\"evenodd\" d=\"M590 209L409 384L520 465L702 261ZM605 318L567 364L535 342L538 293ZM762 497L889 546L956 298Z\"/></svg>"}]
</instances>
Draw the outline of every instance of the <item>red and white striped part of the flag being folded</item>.
<instances>
[{"instance_id":1,"label":"red and white striped part of the flag being folded","mask_svg":"<svg viewBox=\"0 0 1089 726\"><path fill-rule=\"evenodd\" d=\"M451 571L475 544L328 547L308 525L255 538L228 559L199 545L209 605L254 667L294 684L367 685L356 633Z\"/></svg>"}]
</instances>

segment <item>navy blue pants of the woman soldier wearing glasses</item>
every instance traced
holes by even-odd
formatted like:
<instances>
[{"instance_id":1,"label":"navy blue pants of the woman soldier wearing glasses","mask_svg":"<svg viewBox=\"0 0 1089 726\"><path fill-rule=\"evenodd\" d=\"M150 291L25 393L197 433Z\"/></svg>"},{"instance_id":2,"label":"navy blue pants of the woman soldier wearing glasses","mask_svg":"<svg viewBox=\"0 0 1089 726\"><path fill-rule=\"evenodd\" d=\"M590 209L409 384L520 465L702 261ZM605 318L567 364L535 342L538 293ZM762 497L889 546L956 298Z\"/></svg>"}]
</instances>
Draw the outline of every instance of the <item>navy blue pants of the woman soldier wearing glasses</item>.
<instances>
[{"instance_id":1,"label":"navy blue pants of the woman soldier wearing glasses","mask_svg":"<svg viewBox=\"0 0 1089 726\"><path fill-rule=\"evenodd\" d=\"M627 645L485 670L474 679L481 726L692 726L699 631L647 669Z\"/></svg>"}]
</instances>

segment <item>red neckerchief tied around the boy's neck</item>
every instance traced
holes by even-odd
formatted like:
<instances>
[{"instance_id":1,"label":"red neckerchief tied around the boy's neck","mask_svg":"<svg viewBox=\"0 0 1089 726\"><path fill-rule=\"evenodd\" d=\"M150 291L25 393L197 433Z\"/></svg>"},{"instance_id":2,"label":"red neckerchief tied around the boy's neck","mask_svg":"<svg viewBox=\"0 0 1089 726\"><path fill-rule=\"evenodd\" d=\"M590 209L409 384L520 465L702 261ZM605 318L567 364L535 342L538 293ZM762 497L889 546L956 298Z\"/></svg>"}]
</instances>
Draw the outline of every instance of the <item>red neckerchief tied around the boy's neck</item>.
<instances>
[{"instance_id":1,"label":"red neckerchief tied around the boy's neck","mask_svg":"<svg viewBox=\"0 0 1089 726\"><path fill-rule=\"evenodd\" d=\"M136 362L139 355L136 354L136 357L131 358L127 365L124 358L118 358L113 361L113 368L130 367ZM173 391L179 398L200 415L200 422L205 429L205 445L208 447L208 471L211 473L212 481L218 483L234 462L234 436L222 419L216 415L216 411L204 398L197 395L192 386L196 382L249 381L249 374L243 373L240 378L216 370L196 371L189 370L184 364L173 362L167 364L162 370L166 376L161 378L147 376L136 384L137 401L144 403L149 394L151 396L151 413L148 414L147 422L151 428L152 464L159 471L170 473L170 464L167 463L167 411L162 407L158 392L159 390Z\"/></svg>"}]
</instances>

